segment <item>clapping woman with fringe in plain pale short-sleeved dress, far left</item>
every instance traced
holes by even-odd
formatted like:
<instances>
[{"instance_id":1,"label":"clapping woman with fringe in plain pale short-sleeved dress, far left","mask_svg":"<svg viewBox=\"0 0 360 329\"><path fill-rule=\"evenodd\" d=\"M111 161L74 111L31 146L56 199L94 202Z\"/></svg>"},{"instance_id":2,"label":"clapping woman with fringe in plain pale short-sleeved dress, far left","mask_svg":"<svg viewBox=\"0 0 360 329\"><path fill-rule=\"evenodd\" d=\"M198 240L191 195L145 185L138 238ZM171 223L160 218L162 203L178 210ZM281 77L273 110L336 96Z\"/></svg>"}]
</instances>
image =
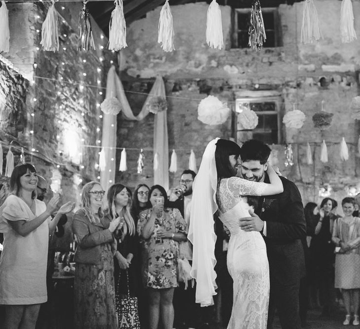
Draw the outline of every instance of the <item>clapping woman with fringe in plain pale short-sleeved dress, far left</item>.
<instances>
[{"instance_id":1,"label":"clapping woman with fringe in plain pale short-sleeved dress, far left","mask_svg":"<svg viewBox=\"0 0 360 329\"><path fill-rule=\"evenodd\" d=\"M60 207L51 220L59 196L47 205L36 199L33 165L17 165L10 177L10 195L0 207L4 233L0 260L0 304L5 304L5 329L33 329L40 304L47 301L46 263L49 233L73 202Z\"/></svg>"}]
</instances>

